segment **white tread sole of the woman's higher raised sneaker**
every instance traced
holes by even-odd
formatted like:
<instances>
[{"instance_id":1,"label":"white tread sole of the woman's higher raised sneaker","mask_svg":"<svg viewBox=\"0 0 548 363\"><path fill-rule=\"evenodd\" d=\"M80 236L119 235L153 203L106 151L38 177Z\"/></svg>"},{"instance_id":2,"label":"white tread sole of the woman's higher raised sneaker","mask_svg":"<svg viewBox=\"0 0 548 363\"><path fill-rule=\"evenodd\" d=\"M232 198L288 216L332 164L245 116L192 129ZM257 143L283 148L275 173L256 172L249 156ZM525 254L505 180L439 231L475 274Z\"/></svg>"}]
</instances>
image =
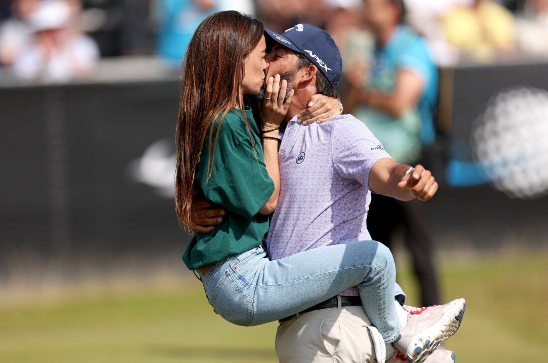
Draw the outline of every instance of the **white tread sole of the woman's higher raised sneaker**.
<instances>
[{"instance_id":1,"label":"white tread sole of the woman's higher raised sneaker","mask_svg":"<svg viewBox=\"0 0 548 363\"><path fill-rule=\"evenodd\" d=\"M420 334L421 336L430 336L432 337L431 339L418 337L411 342L415 348L413 349L413 354L406 357L407 361L410 363L424 362L439 344L452 337L459 330L460 324L463 322L465 309L465 299L456 299L454 306L447 310L434 326Z\"/></svg>"}]
</instances>

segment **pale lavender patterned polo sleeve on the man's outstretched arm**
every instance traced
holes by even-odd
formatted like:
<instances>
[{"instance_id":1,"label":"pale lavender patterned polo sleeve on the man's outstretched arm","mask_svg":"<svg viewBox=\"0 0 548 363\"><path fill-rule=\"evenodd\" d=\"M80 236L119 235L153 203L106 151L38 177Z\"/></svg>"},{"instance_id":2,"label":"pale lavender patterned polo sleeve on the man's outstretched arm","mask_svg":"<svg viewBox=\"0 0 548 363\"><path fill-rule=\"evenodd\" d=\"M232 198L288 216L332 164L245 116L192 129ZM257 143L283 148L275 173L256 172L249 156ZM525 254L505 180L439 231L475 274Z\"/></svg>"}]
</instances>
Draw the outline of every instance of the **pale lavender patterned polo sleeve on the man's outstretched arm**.
<instances>
[{"instance_id":1,"label":"pale lavender patterned polo sleeve on the man's outstretched arm","mask_svg":"<svg viewBox=\"0 0 548 363\"><path fill-rule=\"evenodd\" d=\"M371 167L382 158L390 158L380 141L356 118L337 121L331 145L336 172L366 186Z\"/></svg>"}]
</instances>

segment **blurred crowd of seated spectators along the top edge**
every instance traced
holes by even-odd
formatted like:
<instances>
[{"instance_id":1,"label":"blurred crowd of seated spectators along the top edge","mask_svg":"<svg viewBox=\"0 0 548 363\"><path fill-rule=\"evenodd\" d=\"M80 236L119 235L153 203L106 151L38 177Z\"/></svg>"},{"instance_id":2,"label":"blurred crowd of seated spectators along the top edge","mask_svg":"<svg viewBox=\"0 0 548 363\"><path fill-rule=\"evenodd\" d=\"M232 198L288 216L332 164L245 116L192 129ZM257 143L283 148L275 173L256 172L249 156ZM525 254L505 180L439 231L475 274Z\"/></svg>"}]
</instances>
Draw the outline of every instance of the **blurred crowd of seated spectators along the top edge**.
<instances>
[{"instance_id":1,"label":"blurred crowd of seated spectators along the top edge","mask_svg":"<svg viewBox=\"0 0 548 363\"><path fill-rule=\"evenodd\" d=\"M404 0L406 22L438 66L548 56L548 0ZM283 32L327 30L346 67L368 63L373 37L362 0L0 0L0 67L21 80L92 74L100 56L158 55L179 66L196 26L235 9Z\"/></svg>"}]
</instances>

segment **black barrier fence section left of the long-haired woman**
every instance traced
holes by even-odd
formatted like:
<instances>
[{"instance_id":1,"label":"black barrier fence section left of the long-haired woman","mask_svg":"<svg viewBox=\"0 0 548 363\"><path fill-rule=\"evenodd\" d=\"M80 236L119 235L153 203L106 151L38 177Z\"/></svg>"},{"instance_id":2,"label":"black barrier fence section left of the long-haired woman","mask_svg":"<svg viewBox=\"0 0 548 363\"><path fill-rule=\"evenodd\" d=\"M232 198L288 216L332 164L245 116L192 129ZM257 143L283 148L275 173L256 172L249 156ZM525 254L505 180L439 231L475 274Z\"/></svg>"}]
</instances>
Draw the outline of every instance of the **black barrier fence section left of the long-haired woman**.
<instances>
[{"instance_id":1,"label":"black barrier fence section left of the long-haired woman","mask_svg":"<svg viewBox=\"0 0 548 363\"><path fill-rule=\"evenodd\" d=\"M154 180L173 155L142 165L158 141L174 153L178 105L178 80L0 89L3 247L59 254L186 243L173 198Z\"/></svg>"}]
</instances>

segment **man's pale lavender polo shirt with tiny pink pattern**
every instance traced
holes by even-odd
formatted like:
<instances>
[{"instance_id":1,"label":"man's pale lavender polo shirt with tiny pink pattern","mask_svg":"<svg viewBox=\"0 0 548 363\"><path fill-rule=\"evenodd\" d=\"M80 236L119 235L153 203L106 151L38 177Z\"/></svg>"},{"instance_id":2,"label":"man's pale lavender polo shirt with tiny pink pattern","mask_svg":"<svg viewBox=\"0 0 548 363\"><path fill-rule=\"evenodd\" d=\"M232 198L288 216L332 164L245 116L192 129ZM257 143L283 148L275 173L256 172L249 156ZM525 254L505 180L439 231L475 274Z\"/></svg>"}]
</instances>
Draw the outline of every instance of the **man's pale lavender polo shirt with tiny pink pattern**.
<instances>
[{"instance_id":1,"label":"man's pale lavender polo shirt with tiny pink pattern","mask_svg":"<svg viewBox=\"0 0 548 363\"><path fill-rule=\"evenodd\" d=\"M379 140L352 115L309 126L296 117L289 121L278 152L281 191L266 239L270 259L369 240L369 171L385 157Z\"/></svg>"}]
</instances>

